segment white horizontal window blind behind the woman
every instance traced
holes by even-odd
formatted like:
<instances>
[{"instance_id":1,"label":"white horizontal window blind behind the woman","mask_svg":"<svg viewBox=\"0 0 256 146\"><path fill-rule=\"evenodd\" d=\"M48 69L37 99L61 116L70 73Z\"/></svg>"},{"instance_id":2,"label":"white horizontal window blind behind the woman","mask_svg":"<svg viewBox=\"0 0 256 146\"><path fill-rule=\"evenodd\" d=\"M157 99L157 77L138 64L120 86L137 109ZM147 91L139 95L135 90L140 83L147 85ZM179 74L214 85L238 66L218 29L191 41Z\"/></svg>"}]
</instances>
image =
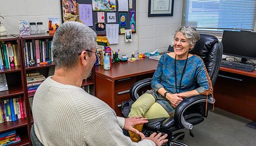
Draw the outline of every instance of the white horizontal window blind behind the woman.
<instances>
[{"instance_id":1,"label":"white horizontal window blind behind the woman","mask_svg":"<svg viewBox=\"0 0 256 146\"><path fill-rule=\"evenodd\" d=\"M199 31L253 31L256 0L183 0L182 25Z\"/></svg>"}]
</instances>

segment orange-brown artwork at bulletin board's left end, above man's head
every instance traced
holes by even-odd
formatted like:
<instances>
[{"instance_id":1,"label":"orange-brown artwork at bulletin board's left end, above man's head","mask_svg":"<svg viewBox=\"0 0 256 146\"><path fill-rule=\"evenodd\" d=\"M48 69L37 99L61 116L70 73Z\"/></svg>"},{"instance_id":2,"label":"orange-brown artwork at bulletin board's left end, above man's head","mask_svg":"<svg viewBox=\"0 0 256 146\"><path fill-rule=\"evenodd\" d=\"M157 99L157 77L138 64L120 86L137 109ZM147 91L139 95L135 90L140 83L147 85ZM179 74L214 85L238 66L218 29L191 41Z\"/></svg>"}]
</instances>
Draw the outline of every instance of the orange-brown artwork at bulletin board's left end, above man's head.
<instances>
[{"instance_id":1,"label":"orange-brown artwork at bulletin board's left end, above man's head","mask_svg":"<svg viewBox=\"0 0 256 146\"><path fill-rule=\"evenodd\" d=\"M77 15L76 0L62 0L62 19L67 13Z\"/></svg>"}]
</instances>

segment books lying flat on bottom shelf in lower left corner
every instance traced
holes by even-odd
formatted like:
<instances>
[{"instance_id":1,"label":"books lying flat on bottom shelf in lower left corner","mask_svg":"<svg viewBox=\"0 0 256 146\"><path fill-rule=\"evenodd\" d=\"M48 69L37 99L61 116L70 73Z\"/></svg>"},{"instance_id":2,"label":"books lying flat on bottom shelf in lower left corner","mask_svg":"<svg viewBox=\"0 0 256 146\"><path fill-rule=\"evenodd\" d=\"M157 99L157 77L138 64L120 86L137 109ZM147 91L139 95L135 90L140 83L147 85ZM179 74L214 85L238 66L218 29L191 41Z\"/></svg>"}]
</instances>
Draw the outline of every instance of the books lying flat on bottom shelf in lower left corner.
<instances>
[{"instance_id":1,"label":"books lying flat on bottom shelf in lower left corner","mask_svg":"<svg viewBox=\"0 0 256 146\"><path fill-rule=\"evenodd\" d=\"M20 141L20 136L17 135L16 130L0 134L0 146L6 146Z\"/></svg>"}]
</instances>

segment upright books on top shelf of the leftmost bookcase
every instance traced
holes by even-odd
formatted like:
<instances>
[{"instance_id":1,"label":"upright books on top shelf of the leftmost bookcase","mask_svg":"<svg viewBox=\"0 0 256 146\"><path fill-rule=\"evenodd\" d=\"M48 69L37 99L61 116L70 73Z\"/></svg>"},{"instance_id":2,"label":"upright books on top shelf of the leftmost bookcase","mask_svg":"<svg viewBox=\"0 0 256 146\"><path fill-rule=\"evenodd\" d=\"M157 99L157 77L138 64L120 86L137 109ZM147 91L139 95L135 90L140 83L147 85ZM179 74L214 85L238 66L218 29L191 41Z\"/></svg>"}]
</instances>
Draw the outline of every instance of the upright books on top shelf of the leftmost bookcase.
<instances>
[{"instance_id":1,"label":"upright books on top shelf of the leftmost bookcase","mask_svg":"<svg viewBox=\"0 0 256 146\"><path fill-rule=\"evenodd\" d=\"M0 68L11 68L20 65L19 55L17 54L17 44L12 42L0 43Z\"/></svg>"}]
</instances>

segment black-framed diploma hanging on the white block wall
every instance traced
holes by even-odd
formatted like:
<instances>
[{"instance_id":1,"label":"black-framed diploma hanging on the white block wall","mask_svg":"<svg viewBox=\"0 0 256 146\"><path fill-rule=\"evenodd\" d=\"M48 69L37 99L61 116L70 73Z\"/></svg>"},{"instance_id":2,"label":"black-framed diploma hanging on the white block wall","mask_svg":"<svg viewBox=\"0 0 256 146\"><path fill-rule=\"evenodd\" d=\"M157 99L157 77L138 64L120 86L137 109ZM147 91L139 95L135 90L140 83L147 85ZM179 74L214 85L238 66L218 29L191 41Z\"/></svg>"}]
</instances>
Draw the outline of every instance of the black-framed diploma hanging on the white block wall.
<instances>
[{"instance_id":1,"label":"black-framed diploma hanging on the white block wall","mask_svg":"<svg viewBox=\"0 0 256 146\"><path fill-rule=\"evenodd\" d=\"M148 0L148 17L174 16L174 0Z\"/></svg>"}]
</instances>

